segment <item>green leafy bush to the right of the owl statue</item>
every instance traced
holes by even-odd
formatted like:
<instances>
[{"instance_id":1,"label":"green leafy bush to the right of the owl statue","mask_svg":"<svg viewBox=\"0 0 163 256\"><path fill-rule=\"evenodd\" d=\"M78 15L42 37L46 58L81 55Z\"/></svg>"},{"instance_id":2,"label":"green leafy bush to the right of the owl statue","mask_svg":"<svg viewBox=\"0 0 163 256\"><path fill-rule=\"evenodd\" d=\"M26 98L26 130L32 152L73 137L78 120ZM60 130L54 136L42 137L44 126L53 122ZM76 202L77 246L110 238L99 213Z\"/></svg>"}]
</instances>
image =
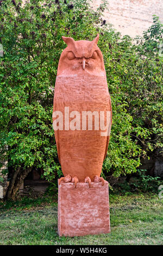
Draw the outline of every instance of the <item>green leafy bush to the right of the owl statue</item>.
<instances>
[{"instance_id":1,"label":"green leafy bush to the right of the owl statue","mask_svg":"<svg viewBox=\"0 0 163 256\"><path fill-rule=\"evenodd\" d=\"M135 172L140 157L162 147L162 32L154 16L153 25L135 41L124 36L110 42L107 32L103 37L110 42L102 51L113 109L104 169L115 176Z\"/></svg>"}]
</instances>

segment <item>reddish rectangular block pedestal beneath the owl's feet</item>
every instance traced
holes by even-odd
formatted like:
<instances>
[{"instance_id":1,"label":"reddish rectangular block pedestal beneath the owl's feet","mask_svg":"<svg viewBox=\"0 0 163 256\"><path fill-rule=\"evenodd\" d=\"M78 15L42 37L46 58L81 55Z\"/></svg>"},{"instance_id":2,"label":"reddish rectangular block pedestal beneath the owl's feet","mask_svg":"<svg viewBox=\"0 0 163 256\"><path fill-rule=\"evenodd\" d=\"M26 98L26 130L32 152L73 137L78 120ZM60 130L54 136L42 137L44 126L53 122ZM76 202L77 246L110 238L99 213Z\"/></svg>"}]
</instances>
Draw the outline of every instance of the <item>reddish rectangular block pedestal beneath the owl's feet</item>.
<instances>
[{"instance_id":1,"label":"reddish rectangular block pedestal beneath the owl's feet","mask_svg":"<svg viewBox=\"0 0 163 256\"><path fill-rule=\"evenodd\" d=\"M58 234L83 236L110 233L108 182L58 185Z\"/></svg>"}]
</instances>

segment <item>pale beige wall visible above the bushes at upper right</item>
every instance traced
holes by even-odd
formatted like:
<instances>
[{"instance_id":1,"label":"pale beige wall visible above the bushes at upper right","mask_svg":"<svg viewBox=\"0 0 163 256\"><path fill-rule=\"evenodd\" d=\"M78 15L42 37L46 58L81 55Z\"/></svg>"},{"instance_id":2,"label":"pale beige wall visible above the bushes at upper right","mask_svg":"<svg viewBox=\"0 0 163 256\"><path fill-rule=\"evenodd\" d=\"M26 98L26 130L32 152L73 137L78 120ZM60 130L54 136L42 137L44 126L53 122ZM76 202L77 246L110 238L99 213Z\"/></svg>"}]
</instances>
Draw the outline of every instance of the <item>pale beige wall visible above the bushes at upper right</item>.
<instances>
[{"instance_id":1,"label":"pale beige wall visible above the bushes at upper right","mask_svg":"<svg viewBox=\"0 0 163 256\"><path fill-rule=\"evenodd\" d=\"M152 15L160 17L163 23L163 0L107 0L109 11L104 11L104 19L114 25L122 35L142 35L152 25ZM99 7L102 0L93 0Z\"/></svg>"}]
</instances>

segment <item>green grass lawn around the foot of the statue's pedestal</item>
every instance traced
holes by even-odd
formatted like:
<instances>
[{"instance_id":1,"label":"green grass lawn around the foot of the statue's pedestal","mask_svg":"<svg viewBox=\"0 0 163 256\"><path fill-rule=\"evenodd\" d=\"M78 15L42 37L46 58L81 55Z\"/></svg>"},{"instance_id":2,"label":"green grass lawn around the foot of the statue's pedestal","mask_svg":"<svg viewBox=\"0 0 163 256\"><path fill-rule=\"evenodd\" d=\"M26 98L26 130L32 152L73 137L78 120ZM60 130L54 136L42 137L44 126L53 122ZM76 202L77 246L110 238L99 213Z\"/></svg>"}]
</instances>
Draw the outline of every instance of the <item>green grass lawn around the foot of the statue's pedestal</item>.
<instances>
[{"instance_id":1,"label":"green grass lawn around the foot of the statue's pedestal","mask_svg":"<svg viewBox=\"0 0 163 256\"><path fill-rule=\"evenodd\" d=\"M110 194L110 234L59 237L56 199L1 202L0 245L162 245L162 203L157 194Z\"/></svg>"}]
</instances>

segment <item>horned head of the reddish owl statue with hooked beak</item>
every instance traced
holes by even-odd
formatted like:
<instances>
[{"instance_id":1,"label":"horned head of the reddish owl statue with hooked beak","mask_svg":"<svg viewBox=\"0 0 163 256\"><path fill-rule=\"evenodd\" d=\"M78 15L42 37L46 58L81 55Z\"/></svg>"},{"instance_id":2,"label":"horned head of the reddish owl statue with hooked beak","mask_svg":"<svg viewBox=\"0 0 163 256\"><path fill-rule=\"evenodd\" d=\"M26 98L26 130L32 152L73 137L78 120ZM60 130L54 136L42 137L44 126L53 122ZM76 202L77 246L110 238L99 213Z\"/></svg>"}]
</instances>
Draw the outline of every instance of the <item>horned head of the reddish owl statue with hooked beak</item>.
<instances>
[{"instance_id":1,"label":"horned head of the reddish owl statue with hooked beak","mask_svg":"<svg viewBox=\"0 0 163 256\"><path fill-rule=\"evenodd\" d=\"M93 74L104 75L103 55L97 42L99 34L93 41L79 40L62 36L67 47L61 53L58 75Z\"/></svg>"}]
</instances>

